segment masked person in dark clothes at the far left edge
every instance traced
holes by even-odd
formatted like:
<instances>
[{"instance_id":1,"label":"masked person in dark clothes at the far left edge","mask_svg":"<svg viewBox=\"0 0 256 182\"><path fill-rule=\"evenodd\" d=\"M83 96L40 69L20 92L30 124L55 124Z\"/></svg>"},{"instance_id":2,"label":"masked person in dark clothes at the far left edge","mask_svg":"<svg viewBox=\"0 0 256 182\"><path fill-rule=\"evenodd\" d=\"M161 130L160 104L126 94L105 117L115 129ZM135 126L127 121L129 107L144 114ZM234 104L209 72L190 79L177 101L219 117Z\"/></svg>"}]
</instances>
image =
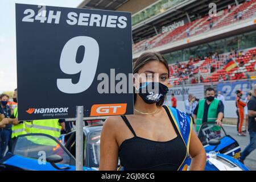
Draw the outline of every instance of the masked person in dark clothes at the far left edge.
<instances>
[{"instance_id":1,"label":"masked person in dark clothes at the far left edge","mask_svg":"<svg viewBox=\"0 0 256 182\"><path fill-rule=\"evenodd\" d=\"M2 111L3 111L3 113L0 113L0 114L5 115L5 118L9 118L11 115L11 109L7 105L8 101L9 101L9 96L7 94L1 94L0 100L1 100L1 107L2 107ZM11 127L12 127L11 124L7 124L7 125L5 125L5 127L0 129L0 137L1 137L0 159L2 159L7 146L9 148L9 151L11 150Z\"/></svg>"}]
</instances>

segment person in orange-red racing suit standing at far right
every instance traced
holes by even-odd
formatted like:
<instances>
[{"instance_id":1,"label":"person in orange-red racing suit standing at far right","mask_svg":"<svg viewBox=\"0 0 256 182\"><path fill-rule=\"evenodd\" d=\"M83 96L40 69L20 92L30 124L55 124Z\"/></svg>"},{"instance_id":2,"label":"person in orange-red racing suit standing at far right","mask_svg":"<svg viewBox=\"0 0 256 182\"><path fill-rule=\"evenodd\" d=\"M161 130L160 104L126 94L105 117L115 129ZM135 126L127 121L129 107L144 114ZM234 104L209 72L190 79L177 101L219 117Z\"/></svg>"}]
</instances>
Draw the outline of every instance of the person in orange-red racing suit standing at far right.
<instances>
[{"instance_id":1,"label":"person in orange-red racing suit standing at far right","mask_svg":"<svg viewBox=\"0 0 256 182\"><path fill-rule=\"evenodd\" d=\"M246 103L242 101L242 91L237 90L236 91L237 98L236 98L236 106L237 106L237 131L238 131L238 136L245 137L246 134L242 132L242 126L243 126L243 118L245 118L245 111L244 107L246 106Z\"/></svg>"}]
</instances>

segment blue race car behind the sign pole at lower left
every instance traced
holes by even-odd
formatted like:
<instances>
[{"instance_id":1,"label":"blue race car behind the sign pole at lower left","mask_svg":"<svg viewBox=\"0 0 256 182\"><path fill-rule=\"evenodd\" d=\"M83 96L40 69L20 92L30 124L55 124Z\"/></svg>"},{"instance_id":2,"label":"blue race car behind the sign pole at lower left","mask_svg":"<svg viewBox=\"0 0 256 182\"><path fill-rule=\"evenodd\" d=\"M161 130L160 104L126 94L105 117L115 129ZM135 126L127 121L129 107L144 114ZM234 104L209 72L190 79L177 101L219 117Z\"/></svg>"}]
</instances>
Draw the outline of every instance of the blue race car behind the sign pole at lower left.
<instances>
[{"instance_id":1,"label":"blue race car behind the sign pole at lower left","mask_svg":"<svg viewBox=\"0 0 256 182\"><path fill-rule=\"evenodd\" d=\"M102 126L84 127L84 170L97 170ZM75 171L76 133L59 139L46 134L26 134L15 139L11 152L0 160L0 171Z\"/></svg>"}]
</instances>

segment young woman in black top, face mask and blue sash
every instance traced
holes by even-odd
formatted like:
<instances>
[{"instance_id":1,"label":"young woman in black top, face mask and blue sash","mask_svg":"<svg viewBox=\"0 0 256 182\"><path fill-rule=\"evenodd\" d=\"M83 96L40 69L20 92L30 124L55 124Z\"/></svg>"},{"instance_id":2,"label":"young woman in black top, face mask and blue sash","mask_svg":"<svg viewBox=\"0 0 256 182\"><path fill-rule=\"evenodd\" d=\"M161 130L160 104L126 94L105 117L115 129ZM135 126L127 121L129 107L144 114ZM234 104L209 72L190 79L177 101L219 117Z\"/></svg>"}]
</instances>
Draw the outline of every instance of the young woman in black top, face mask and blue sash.
<instances>
[{"instance_id":1,"label":"young woman in black top, face mask and blue sash","mask_svg":"<svg viewBox=\"0 0 256 182\"><path fill-rule=\"evenodd\" d=\"M144 53L134 64L134 114L108 117L101 133L100 170L204 170L206 154L192 131L192 118L162 106L170 76L158 53ZM158 93L142 92L158 86ZM146 91L147 91L146 90ZM155 95L156 94L156 95Z\"/></svg>"}]
</instances>

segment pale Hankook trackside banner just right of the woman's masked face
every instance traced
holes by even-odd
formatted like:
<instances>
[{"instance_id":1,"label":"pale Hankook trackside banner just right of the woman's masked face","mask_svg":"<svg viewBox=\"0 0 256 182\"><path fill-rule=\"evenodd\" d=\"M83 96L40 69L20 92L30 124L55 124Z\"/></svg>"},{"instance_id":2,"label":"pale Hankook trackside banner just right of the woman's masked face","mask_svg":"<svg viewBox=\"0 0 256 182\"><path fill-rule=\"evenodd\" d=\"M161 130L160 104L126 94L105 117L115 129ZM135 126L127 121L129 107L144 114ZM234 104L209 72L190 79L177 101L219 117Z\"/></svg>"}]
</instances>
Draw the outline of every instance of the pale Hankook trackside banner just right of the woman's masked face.
<instances>
[{"instance_id":1,"label":"pale Hankook trackside banner just right of the woman's masked face","mask_svg":"<svg viewBox=\"0 0 256 182\"><path fill-rule=\"evenodd\" d=\"M196 98L202 99L204 98L204 85L190 85L190 86L175 86L169 88L169 92L167 94L167 104L171 105L171 94L174 94L177 101L183 101L188 98L188 94L193 94Z\"/></svg>"}]
</instances>

